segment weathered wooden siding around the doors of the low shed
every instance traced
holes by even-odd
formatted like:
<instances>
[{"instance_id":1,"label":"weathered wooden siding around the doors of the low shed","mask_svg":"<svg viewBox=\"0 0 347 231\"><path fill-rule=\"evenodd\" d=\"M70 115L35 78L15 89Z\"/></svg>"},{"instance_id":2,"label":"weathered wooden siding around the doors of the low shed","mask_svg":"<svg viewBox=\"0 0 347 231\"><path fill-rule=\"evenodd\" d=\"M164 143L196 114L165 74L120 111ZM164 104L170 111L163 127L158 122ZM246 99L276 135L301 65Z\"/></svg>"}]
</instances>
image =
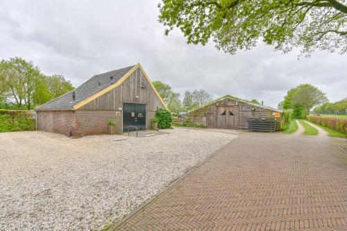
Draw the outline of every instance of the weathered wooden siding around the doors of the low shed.
<instances>
[{"instance_id":1,"label":"weathered wooden siding around the doors of the low shed","mask_svg":"<svg viewBox=\"0 0 347 231\"><path fill-rule=\"evenodd\" d=\"M197 125L207 126L206 124L206 114L213 115L214 118L214 127L217 127L217 106L223 105L239 105L239 129L248 129L248 118L270 118L273 117L272 110L255 107L255 111L252 110L253 105L249 105L248 103L243 103L239 101L235 101L233 99L223 99L211 105L207 105L204 108L200 108L194 112L189 112L189 122L195 123Z\"/></svg>"}]
</instances>

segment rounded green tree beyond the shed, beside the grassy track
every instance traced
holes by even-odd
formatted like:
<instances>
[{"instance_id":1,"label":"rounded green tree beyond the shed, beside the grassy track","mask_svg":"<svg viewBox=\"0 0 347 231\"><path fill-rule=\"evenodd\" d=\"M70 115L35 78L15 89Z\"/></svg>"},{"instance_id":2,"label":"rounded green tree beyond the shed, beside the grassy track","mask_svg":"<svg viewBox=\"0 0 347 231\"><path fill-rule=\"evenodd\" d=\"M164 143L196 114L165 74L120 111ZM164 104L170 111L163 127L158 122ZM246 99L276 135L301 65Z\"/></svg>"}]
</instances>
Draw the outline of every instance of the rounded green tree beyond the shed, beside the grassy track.
<instances>
[{"instance_id":1,"label":"rounded green tree beyond the shed, beside the grassy track","mask_svg":"<svg viewBox=\"0 0 347 231\"><path fill-rule=\"evenodd\" d=\"M296 94L292 98L294 105L301 105L306 113L321 103L327 102L328 99L320 89L310 84L302 84L297 87Z\"/></svg>"}]
</instances>

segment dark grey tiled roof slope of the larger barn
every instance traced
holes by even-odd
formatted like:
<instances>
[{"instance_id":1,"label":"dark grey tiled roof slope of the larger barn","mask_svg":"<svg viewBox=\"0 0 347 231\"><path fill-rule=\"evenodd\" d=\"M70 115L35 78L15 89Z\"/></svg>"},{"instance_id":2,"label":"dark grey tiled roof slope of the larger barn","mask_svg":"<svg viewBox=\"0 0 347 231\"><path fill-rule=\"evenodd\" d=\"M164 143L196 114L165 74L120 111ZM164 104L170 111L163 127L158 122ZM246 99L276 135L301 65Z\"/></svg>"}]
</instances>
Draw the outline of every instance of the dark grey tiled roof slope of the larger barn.
<instances>
[{"instance_id":1,"label":"dark grey tiled roof slope of the larger barn","mask_svg":"<svg viewBox=\"0 0 347 231\"><path fill-rule=\"evenodd\" d=\"M48 103L44 103L35 110L72 110L74 105L101 92L106 87L110 87L110 85L117 83L121 77L128 73L133 67L135 67L135 65L93 76L71 92L67 92L67 94L63 94ZM111 79L110 76L113 78ZM72 99L73 92L75 94L75 100Z\"/></svg>"}]
</instances>

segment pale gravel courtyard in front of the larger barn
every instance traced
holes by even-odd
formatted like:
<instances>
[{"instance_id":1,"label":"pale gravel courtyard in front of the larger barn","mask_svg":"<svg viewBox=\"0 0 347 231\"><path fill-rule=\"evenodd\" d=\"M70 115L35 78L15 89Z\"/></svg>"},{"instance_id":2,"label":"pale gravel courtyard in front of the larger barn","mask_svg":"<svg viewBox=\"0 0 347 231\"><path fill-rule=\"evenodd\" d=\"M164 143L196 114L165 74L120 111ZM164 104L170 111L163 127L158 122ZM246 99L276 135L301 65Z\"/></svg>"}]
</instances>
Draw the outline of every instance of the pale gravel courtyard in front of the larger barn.
<instances>
[{"instance_id":1,"label":"pale gravel courtyard in front of the larger barn","mask_svg":"<svg viewBox=\"0 0 347 231\"><path fill-rule=\"evenodd\" d=\"M122 141L0 133L0 230L100 230L237 137L170 131Z\"/></svg>"}]
</instances>

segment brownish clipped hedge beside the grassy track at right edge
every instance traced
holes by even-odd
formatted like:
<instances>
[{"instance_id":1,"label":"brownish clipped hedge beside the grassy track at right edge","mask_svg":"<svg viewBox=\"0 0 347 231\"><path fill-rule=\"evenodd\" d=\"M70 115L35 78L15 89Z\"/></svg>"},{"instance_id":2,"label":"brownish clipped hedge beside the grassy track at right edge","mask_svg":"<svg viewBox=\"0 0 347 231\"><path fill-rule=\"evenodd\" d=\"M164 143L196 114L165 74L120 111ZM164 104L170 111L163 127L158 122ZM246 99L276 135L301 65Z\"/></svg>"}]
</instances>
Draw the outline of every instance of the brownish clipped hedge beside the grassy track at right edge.
<instances>
[{"instance_id":1,"label":"brownish clipped hedge beside the grassy track at right edge","mask_svg":"<svg viewBox=\"0 0 347 231\"><path fill-rule=\"evenodd\" d=\"M347 134L347 119L339 117L321 117L308 115L306 119L321 126Z\"/></svg>"}]
</instances>

